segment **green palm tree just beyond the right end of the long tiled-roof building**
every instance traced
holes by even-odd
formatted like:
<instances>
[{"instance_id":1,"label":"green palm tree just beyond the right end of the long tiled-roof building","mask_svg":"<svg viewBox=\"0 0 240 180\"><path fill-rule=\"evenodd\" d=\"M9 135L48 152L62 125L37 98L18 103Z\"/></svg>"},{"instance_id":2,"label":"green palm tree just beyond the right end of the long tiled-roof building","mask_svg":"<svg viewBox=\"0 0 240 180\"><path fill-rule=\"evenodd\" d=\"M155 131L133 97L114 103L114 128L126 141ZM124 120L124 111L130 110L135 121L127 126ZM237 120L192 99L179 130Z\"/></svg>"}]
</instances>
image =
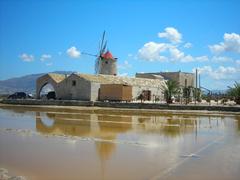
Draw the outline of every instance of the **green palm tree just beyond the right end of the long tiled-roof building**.
<instances>
[{"instance_id":1,"label":"green palm tree just beyond the right end of the long tiled-roof building","mask_svg":"<svg viewBox=\"0 0 240 180\"><path fill-rule=\"evenodd\" d=\"M162 86L164 98L168 104L172 103L172 96L179 93L179 85L176 81L168 80L165 85Z\"/></svg>"}]
</instances>

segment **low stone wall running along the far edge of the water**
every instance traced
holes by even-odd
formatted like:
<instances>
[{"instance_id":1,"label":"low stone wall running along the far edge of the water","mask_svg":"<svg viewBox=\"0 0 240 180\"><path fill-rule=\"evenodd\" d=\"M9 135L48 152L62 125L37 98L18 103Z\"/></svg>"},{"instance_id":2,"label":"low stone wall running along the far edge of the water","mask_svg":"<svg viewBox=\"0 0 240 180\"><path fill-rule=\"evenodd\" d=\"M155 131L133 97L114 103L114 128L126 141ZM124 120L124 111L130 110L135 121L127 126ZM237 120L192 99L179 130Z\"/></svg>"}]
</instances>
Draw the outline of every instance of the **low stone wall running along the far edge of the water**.
<instances>
[{"instance_id":1,"label":"low stone wall running along the far edge of the water","mask_svg":"<svg viewBox=\"0 0 240 180\"><path fill-rule=\"evenodd\" d=\"M5 99L0 103L16 105L55 105L55 106L95 106L109 108L128 109L161 109L161 110L202 110L202 111L225 111L240 112L240 106L207 106L207 105L179 105L179 104L156 104L156 103L121 103L121 102L93 102L75 100L33 100Z\"/></svg>"}]
</instances>

